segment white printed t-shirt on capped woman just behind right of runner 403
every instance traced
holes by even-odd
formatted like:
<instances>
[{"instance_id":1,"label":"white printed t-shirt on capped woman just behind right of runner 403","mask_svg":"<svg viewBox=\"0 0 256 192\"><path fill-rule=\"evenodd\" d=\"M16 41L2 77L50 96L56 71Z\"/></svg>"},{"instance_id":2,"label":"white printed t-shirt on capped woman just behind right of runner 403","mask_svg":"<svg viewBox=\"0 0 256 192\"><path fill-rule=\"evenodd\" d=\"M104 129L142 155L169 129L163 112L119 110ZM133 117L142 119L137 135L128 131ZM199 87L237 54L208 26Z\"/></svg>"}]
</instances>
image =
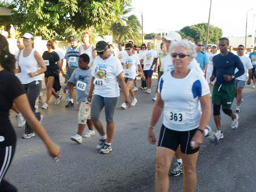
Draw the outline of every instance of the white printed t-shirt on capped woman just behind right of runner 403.
<instances>
[{"instance_id":1,"label":"white printed t-shirt on capped woman just behind right of runner 403","mask_svg":"<svg viewBox=\"0 0 256 192\"><path fill-rule=\"evenodd\" d=\"M125 77L133 78L136 77L136 69L140 64L139 58L137 55L133 54L132 56L126 55L122 59L123 69L125 72Z\"/></svg>"}]
</instances>

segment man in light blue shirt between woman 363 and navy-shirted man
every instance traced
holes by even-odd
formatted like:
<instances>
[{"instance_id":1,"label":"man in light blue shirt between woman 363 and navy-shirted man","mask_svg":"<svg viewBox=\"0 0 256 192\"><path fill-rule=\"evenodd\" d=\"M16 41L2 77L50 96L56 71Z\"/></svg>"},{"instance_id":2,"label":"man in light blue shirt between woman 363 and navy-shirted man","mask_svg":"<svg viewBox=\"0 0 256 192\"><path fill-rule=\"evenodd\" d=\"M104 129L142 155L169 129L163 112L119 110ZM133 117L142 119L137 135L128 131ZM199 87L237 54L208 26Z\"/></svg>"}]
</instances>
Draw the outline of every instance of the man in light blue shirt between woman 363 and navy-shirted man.
<instances>
[{"instance_id":1,"label":"man in light blue shirt between woman 363 and navy-shirted man","mask_svg":"<svg viewBox=\"0 0 256 192\"><path fill-rule=\"evenodd\" d=\"M206 53L203 51L203 42L200 40L196 40L196 61L200 64L200 68L203 72L206 71L207 65L209 64L209 59Z\"/></svg>"}]
</instances>

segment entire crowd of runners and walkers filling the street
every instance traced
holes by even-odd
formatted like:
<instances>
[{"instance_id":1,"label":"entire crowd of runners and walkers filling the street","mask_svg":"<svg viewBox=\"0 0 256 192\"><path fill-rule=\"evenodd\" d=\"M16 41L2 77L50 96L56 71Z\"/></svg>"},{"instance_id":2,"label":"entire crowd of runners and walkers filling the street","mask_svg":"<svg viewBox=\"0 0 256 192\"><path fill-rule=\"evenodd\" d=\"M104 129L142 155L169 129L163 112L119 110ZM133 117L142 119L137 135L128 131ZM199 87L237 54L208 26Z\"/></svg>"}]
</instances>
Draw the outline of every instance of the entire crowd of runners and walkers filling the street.
<instances>
[{"instance_id":1,"label":"entire crowd of runners and walkers filling the street","mask_svg":"<svg viewBox=\"0 0 256 192\"><path fill-rule=\"evenodd\" d=\"M43 115L39 111L51 107L52 95L55 105L59 105L62 95L65 95L67 110L74 107L75 101L79 103L78 128L71 140L81 144L82 137L95 135L95 128L101 136L97 149L106 154L113 151L114 110L120 90L123 91L120 107L129 110L139 103L135 93L140 89L146 94L155 92L151 120L148 117L148 141L152 144L157 141L154 128L163 112L156 152L155 190L167 191L169 174L179 176L184 173L184 190L195 191L196 161L203 137L208 137L215 144L224 138L221 108L230 117L230 127L233 130L238 128L243 87L252 84L251 87L255 88L256 47L247 55L244 46L239 45L234 54L229 40L223 37L218 45L212 44L204 51L202 41L193 43L174 31L162 40L158 52L152 49L151 43L138 48L133 41L118 44L115 52L113 45L105 41L98 41L94 47L92 35L85 31L82 45L76 36L70 36L70 45L64 54L57 48L56 41L48 40L47 51L40 56L34 49L34 36L25 33L19 37L19 51L13 56L1 35L0 97L5 101L1 105L1 122L5 126L0 131L0 189L16 190L3 180L16 147L15 133L9 120L10 109L16 112L19 127L26 124L22 138L30 139L35 132L38 133L50 155L59 158L59 146L44 131L40 124ZM41 91L43 73L47 89L45 95ZM63 87L60 85L60 73L65 77ZM151 90L153 74L158 76L156 90ZM140 87L138 78L141 79ZM232 110L235 97L236 108ZM105 108L106 126L100 121L102 108ZM211 108L216 132L208 126ZM84 131L86 125L88 130ZM174 156L177 163L169 173Z\"/></svg>"}]
</instances>

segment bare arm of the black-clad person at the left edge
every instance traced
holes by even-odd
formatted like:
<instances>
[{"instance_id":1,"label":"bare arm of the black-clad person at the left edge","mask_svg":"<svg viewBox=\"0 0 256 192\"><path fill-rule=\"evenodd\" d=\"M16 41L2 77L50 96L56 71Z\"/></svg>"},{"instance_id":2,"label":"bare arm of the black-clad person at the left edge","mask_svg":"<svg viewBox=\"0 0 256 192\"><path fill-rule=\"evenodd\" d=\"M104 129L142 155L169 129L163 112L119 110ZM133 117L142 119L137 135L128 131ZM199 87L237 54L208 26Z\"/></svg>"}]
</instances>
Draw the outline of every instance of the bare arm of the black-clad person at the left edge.
<instances>
[{"instance_id":1,"label":"bare arm of the black-clad person at the left edge","mask_svg":"<svg viewBox=\"0 0 256 192\"><path fill-rule=\"evenodd\" d=\"M59 158L60 156L60 147L53 143L46 130L44 130L42 124L39 123L38 119L34 112L31 110L30 103L28 103L27 95L22 94L19 97L14 99L15 105L22 112L24 118L27 120L27 123L33 128L33 130L41 137L44 144L48 148L49 155L52 157Z\"/></svg>"}]
</instances>

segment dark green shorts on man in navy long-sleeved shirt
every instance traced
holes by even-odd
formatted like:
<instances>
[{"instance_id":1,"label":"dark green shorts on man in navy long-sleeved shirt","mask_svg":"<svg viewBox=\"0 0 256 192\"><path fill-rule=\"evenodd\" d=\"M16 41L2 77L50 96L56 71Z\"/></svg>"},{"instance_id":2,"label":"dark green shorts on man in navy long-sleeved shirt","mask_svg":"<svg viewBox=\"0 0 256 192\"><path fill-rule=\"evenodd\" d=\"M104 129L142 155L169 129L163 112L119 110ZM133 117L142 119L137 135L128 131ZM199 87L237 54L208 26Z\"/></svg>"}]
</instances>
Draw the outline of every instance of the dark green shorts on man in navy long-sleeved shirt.
<instances>
[{"instance_id":1,"label":"dark green shorts on man in navy long-sleeved shirt","mask_svg":"<svg viewBox=\"0 0 256 192\"><path fill-rule=\"evenodd\" d=\"M236 95L236 85L214 84L212 91L212 103L230 108Z\"/></svg>"}]
</instances>

